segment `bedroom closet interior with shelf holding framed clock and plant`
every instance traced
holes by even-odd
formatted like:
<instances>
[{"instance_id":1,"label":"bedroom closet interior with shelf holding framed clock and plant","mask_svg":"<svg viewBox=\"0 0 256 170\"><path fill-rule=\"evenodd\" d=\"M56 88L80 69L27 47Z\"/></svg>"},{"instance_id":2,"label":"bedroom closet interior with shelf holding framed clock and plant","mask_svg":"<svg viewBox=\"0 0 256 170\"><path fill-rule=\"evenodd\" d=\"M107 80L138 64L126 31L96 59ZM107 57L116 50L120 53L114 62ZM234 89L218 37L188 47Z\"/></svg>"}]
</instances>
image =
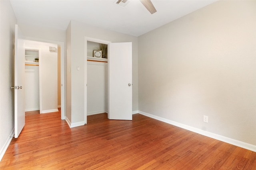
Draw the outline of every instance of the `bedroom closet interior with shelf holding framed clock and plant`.
<instances>
[{"instance_id":1,"label":"bedroom closet interior with shelf holding framed clock and plant","mask_svg":"<svg viewBox=\"0 0 256 170\"><path fill-rule=\"evenodd\" d=\"M108 113L108 43L87 40L86 51L87 115Z\"/></svg>"}]
</instances>

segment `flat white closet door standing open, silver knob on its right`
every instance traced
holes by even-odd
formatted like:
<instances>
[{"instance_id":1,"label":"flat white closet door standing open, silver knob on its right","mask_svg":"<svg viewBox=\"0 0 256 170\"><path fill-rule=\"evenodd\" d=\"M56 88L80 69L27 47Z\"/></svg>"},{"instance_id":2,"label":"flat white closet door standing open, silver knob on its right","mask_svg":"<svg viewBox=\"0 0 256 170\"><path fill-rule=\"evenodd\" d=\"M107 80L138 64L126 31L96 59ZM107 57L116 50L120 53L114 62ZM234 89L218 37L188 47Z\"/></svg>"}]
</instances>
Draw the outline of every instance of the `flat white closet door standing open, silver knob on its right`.
<instances>
[{"instance_id":1,"label":"flat white closet door standing open, silver knob on its right","mask_svg":"<svg viewBox=\"0 0 256 170\"><path fill-rule=\"evenodd\" d=\"M132 43L109 44L109 119L132 120Z\"/></svg>"}]
</instances>

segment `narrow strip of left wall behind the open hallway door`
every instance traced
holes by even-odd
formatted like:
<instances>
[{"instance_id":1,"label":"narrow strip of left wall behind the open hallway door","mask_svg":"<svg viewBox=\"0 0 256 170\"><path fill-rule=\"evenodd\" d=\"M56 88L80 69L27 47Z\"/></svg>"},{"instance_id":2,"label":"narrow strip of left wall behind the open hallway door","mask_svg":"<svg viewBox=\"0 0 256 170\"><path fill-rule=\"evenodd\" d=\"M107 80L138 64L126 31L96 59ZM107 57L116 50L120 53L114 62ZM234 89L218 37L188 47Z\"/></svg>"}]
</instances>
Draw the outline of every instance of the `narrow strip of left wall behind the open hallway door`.
<instances>
[{"instance_id":1,"label":"narrow strip of left wall behind the open hallway door","mask_svg":"<svg viewBox=\"0 0 256 170\"><path fill-rule=\"evenodd\" d=\"M14 32L17 23L10 1L0 1L0 160L14 134Z\"/></svg>"}]
</instances>

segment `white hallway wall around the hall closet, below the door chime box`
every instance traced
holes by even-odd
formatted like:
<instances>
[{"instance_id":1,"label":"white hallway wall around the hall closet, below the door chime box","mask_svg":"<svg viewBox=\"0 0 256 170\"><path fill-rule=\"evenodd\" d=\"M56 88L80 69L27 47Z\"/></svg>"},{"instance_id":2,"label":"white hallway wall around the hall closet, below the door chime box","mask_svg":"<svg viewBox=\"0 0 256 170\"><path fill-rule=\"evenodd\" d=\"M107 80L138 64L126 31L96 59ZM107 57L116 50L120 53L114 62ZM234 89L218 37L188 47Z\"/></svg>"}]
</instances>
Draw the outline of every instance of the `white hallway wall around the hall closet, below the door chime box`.
<instances>
[{"instance_id":1,"label":"white hallway wall around the hall closet, below the door chime box","mask_svg":"<svg viewBox=\"0 0 256 170\"><path fill-rule=\"evenodd\" d=\"M25 41L25 45L26 48L40 49L42 113L56 111L58 109L58 45L29 40ZM56 51L49 51L49 47L56 47Z\"/></svg>"}]
</instances>

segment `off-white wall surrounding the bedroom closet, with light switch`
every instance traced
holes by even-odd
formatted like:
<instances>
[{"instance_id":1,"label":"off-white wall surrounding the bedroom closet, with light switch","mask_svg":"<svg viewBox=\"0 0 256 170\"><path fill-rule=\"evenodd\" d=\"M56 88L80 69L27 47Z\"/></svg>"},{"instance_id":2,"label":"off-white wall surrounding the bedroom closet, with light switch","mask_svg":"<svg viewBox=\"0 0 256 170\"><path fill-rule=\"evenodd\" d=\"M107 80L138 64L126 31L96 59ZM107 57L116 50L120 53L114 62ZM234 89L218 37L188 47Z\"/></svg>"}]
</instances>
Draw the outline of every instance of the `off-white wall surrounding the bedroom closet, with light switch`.
<instances>
[{"instance_id":1,"label":"off-white wall surrounding the bedroom closet, with light switch","mask_svg":"<svg viewBox=\"0 0 256 170\"><path fill-rule=\"evenodd\" d=\"M70 31L71 29L71 31ZM67 78L67 81L71 82L70 88L67 90L71 93L71 99L69 104L71 106L72 121L71 123L79 123L84 121L84 102L86 101L86 96L84 95L85 88L85 42L84 37L92 37L96 39L102 39L105 41L114 42L132 42L132 83L133 83L133 98L132 98L132 109L133 111L138 110L138 42L137 37L126 35L122 33L117 33L114 31L101 29L98 27L93 27L86 25L85 23L80 23L78 21L71 21L70 27L67 31L71 32L71 45L70 50L71 54L68 57L70 62L67 62L67 68L71 68L70 78ZM80 66L80 70L76 70L77 66ZM68 102L68 97L67 97ZM68 111L68 110L67 110Z\"/></svg>"}]
</instances>

